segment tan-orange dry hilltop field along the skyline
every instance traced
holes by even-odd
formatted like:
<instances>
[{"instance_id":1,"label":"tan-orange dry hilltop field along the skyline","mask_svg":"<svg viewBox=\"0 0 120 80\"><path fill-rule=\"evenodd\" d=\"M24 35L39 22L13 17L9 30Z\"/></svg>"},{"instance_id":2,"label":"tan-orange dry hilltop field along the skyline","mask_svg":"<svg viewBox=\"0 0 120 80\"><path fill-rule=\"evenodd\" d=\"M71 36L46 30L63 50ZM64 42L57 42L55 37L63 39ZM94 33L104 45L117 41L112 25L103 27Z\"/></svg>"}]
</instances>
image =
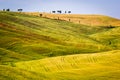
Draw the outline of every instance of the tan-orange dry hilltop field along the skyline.
<instances>
[{"instance_id":1,"label":"tan-orange dry hilltop field along the skyline","mask_svg":"<svg viewBox=\"0 0 120 80\"><path fill-rule=\"evenodd\" d=\"M88 26L120 26L120 20L105 15L85 15L85 14L52 14L52 13L39 13L27 12L25 14L36 15L43 14L43 17L51 19L61 19L65 21L74 22Z\"/></svg>"}]
</instances>

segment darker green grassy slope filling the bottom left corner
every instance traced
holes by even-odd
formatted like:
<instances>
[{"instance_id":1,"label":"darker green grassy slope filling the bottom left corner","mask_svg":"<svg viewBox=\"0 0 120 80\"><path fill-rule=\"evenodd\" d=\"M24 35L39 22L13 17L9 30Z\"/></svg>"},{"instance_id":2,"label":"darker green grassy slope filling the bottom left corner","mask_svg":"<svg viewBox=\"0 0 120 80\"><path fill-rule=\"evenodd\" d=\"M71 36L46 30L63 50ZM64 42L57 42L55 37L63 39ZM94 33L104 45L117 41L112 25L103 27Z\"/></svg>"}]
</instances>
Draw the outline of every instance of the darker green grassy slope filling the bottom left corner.
<instances>
[{"instance_id":1,"label":"darker green grassy slope filling the bottom left corner","mask_svg":"<svg viewBox=\"0 0 120 80\"><path fill-rule=\"evenodd\" d=\"M14 67L0 65L0 80L45 80L46 76ZM47 78L49 80L49 78Z\"/></svg>"}]
</instances>

